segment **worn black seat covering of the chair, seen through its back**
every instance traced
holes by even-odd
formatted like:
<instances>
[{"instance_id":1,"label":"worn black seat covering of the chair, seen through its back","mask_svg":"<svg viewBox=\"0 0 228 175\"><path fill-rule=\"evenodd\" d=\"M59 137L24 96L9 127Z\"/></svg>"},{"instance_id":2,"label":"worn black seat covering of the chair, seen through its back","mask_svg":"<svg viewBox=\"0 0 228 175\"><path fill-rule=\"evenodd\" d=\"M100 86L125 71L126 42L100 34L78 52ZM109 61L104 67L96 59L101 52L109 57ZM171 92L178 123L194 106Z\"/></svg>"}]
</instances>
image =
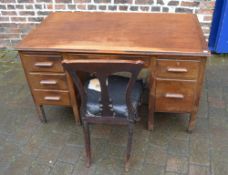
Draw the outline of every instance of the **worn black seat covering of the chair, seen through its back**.
<instances>
[{"instance_id":1,"label":"worn black seat covering of the chair, seen through its back","mask_svg":"<svg viewBox=\"0 0 228 175\"><path fill-rule=\"evenodd\" d=\"M85 83L85 89L87 92L87 103L86 103L86 111L90 116L100 116L100 102L101 93L98 90L94 90L89 87L89 81ZM108 91L109 98L112 99L112 108L113 112L115 112L116 117L127 117L128 110L125 100L125 92L127 88L127 84L129 82L129 78L121 77L117 75L110 76L108 78ZM143 84L141 80L137 80L134 84L131 98L132 105L135 111L137 111L137 106L140 103L141 94L143 91Z\"/></svg>"}]
</instances>

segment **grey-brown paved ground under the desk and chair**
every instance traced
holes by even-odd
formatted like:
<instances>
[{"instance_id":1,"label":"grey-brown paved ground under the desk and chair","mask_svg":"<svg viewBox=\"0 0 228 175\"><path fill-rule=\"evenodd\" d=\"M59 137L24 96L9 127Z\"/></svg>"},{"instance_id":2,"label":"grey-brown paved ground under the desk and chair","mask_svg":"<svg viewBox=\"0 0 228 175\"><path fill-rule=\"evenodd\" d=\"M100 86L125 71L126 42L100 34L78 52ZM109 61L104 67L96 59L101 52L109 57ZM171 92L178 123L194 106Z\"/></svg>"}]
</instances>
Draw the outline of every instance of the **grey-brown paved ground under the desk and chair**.
<instances>
[{"instance_id":1,"label":"grey-brown paved ground under the desk and chair","mask_svg":"<svg viewBox=\"0 0 228 175\"><path fill-rule=\"evenodd\" d=\"M227 57L227 56L226 56ZM126 129L92 127L92 166L85 168L83 135L71 108L45 107L48 123L37 118L17 52L0 51L1 175L227 175L228 57L208 60L192 134L187 114L157 113L146 130L146 106L136 124L131 166L124 172Z\"/></svg>"}]
</instances>

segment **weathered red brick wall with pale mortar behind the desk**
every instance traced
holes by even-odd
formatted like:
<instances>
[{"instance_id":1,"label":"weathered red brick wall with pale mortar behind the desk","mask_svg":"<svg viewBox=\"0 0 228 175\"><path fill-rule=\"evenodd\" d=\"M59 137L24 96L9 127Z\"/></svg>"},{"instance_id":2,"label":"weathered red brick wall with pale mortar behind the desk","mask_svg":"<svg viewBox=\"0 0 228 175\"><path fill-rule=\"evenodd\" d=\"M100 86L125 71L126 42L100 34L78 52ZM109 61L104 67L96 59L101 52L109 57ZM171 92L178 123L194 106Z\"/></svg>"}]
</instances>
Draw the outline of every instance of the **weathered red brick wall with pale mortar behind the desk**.
<instances>
[{"instance_id":1,"label":"weathered red brick wall with pale mortar behind the desk","mask_svg":"<svg viewBox=\"0 0 228 175\"><path fill-rule=\"evenodd\" d=\"M214 0L0 0L0 48L13 48L54 11L195 13L209 35Z\"/></svg>"}]
</instances>

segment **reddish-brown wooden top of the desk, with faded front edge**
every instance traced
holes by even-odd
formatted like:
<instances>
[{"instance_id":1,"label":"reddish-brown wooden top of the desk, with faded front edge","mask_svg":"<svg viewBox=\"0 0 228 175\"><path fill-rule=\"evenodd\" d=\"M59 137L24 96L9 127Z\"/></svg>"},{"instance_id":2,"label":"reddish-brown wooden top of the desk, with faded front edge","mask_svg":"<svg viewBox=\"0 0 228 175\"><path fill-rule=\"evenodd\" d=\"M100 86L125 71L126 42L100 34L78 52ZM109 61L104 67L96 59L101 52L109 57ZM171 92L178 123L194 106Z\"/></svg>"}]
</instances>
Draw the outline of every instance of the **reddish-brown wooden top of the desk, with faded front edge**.
<instances>
[{"instance_id":1,"label":"reddish-brown wooden top of the desk, with faded front edge","mask_svg":"<svg viewBox=\"0 0 228 175\"><path fill-rule=\"evenodd\" d=\"M57 12L17 46L23 51L208 56L193 14Z\"/></svg>"}]
</instances>

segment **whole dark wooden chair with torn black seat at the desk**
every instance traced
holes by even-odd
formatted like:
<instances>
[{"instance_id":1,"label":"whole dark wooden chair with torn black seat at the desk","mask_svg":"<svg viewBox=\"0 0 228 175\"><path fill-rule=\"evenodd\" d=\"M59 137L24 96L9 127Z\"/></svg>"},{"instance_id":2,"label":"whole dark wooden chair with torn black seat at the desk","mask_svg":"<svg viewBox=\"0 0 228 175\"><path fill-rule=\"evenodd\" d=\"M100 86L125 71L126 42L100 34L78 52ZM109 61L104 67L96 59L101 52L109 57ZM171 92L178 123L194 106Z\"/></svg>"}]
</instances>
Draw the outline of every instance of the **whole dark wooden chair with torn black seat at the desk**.
<instances>
[{"instance_id":1,"label":"whole dark wooden chair with torn black seat at the desk","mask_svg":"<svg viewBox=\"0 0 228 175\"><path fill-rule=\"evenodd\" d=\"M86 166L91 164L89 124L128 126L125 170L128 171L132 146L133 124L137 118L142 82L137 80L143 61L130 60L64 60L63 67L72 76L80 94L80 115L83 124ZM82 83L77 72L87 72L99 80L100 91L89 89L90 81ZM128 72L130 78L113 75ZM94 79L93 79L94 80ZM109 93L110 92L110 93Z\"/></svg>"}]
</instances>

